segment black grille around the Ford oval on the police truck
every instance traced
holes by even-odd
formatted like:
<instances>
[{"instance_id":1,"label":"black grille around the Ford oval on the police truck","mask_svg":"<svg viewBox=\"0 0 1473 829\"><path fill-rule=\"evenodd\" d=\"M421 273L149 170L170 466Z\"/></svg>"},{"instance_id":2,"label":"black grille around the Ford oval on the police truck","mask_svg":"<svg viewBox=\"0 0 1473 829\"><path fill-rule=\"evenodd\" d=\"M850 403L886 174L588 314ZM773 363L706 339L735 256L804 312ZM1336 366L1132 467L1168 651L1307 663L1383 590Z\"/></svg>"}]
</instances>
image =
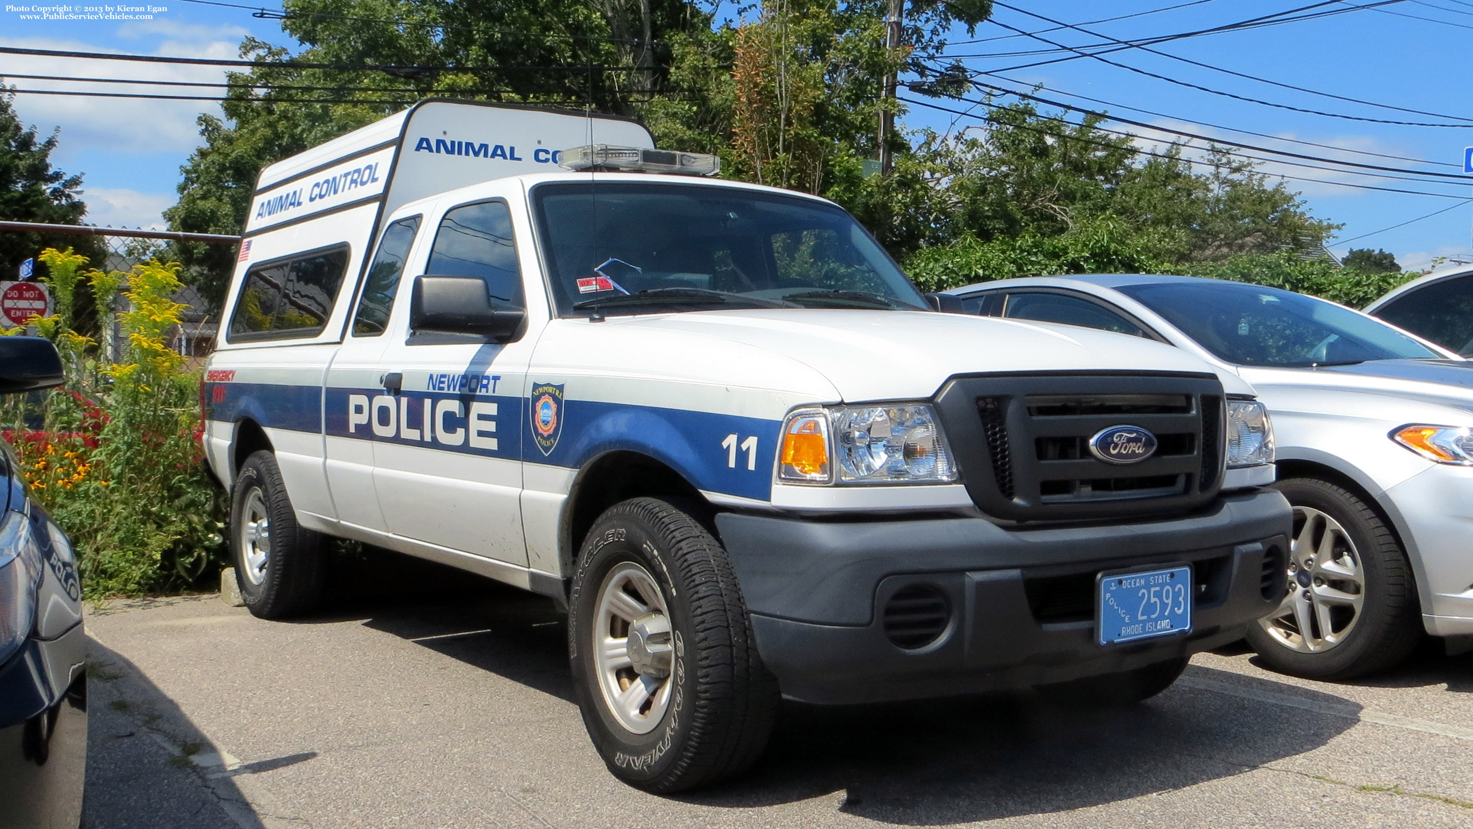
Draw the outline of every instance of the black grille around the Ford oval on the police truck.
<instances>
[{"instance_id":1,"label":"black grille around the Ford oval on the police truck","mask_svg":"<svg viewBox=\"0 0 1473 829\"><path fill-rule=\"evenodd\" d=\"M997 518L1161 514L1206 504L1221 486L1215 375L959 377L937 403L972 501ZM1096 458L1090 439L1117 426L1149 430L1156 451L1128 465Z\"/></svg>"}]
</instances>

